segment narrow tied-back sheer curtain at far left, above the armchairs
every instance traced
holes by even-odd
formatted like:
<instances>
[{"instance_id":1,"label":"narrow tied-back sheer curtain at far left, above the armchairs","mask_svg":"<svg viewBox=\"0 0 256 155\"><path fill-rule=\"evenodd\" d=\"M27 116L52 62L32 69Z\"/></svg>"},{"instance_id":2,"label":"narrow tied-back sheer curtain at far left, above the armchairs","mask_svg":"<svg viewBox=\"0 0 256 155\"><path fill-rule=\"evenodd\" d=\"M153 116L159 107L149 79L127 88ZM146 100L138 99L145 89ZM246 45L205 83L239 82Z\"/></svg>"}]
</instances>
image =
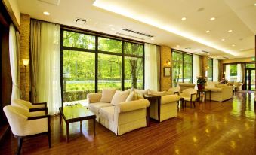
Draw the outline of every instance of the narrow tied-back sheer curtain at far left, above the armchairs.
<instances>
[{"instance_id":1,"label":"narrow tied-back sheer curtain at far left, above the armchairs","mask_svg":"<svg viewBox=\"0 0 256 155\"><path fill-rule=\"evenodd\" d=\"M11 80L12 80L12 91L11 100L20 99L20 90L18 87L18 47L17 47L17 32L15 30L14 24L11 23L9 29L9 56L11 65Z\"/></svg>"}]
</instances>

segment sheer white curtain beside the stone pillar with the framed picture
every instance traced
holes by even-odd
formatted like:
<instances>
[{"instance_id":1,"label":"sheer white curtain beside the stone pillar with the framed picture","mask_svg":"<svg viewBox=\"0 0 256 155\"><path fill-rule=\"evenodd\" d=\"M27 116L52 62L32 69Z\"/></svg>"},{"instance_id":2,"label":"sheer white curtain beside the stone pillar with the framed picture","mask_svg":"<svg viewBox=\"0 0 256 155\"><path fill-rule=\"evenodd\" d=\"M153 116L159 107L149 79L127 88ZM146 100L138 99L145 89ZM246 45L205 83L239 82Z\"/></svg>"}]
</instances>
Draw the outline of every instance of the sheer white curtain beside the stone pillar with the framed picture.
<instances>
[{"instance_id":1,"label":"sheer white curtain beside the stone pillar with the framed picture","mask_svg":"<svg viewBox=\"0 0 256 155\"><path fill-rule=\"evenodd\" d=\"M156 45L145 43L145 89L158 90L158 52Z\"/></svg>"}]
</instances>

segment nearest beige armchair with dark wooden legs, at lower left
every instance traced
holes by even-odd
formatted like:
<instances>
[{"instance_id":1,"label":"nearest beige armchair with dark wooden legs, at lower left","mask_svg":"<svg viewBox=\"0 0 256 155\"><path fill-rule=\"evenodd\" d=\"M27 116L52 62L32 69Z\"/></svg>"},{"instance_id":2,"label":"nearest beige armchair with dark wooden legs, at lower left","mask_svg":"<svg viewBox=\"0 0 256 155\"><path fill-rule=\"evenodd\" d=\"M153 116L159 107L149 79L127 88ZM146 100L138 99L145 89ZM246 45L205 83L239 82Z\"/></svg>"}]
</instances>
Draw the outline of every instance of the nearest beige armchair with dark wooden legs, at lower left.
<instances>
[{"instance_id":1,"label":"nearest beige armchair with dark wooden legs, at lower left","mask_svg":"<svg viewBox=\"0 0 256 155\"><path fill-rule=\"evenodd\" d=\"M28 110L12 105L5 106L3 109L11 126L11 132L18 138L17 154L20 154L23 138L35 135L47 134L49 148L51 148L50 115L34 116Z\"/></svg>"}]
</instances>

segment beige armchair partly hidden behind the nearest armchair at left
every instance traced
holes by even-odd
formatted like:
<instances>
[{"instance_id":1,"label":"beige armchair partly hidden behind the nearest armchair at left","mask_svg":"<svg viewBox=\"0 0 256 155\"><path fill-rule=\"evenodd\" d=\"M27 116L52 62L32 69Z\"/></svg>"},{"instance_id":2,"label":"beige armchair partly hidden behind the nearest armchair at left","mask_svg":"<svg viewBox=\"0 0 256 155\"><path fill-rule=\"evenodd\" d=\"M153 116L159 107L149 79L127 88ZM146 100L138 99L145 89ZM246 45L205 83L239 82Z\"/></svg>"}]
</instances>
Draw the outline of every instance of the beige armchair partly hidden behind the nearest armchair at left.
<instances>
[{"instance_id":1,"label":"beige armchair partly hidden behind the nearest armchair at left","mask_svg":"<svg viewBox=\"0 0 256 155\"><path fill-rule=\"evenodd\" d=\"M24 108L37 116L48 114L48 108L47 108L46 102L31 103L31 102L24 101L22 99L14 99L11 101L11 105Z\"/></svg>"}]
</instances>

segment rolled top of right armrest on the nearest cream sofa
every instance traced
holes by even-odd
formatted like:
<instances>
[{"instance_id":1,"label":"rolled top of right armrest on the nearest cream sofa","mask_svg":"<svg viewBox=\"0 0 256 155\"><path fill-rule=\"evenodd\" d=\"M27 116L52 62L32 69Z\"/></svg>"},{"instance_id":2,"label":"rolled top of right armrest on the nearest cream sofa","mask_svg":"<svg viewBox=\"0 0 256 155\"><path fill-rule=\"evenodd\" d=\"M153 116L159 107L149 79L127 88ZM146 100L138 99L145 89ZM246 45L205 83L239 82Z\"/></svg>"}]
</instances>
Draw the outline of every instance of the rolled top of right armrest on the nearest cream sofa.
<instances>
[{"instance_id":1,"label":"rolled top of right armrest on the nearest cream sofa","mask_svg":"<svg viewBox=\"0 0 256 155\"><path fill-rule=\"evenodd\" d=\"M147 108L150 106L150 102L147 99L139 99L131 102L121 102L115 105L115 111L117 113L134 111L141 108Z\"/></svg>"}]
</instances>

